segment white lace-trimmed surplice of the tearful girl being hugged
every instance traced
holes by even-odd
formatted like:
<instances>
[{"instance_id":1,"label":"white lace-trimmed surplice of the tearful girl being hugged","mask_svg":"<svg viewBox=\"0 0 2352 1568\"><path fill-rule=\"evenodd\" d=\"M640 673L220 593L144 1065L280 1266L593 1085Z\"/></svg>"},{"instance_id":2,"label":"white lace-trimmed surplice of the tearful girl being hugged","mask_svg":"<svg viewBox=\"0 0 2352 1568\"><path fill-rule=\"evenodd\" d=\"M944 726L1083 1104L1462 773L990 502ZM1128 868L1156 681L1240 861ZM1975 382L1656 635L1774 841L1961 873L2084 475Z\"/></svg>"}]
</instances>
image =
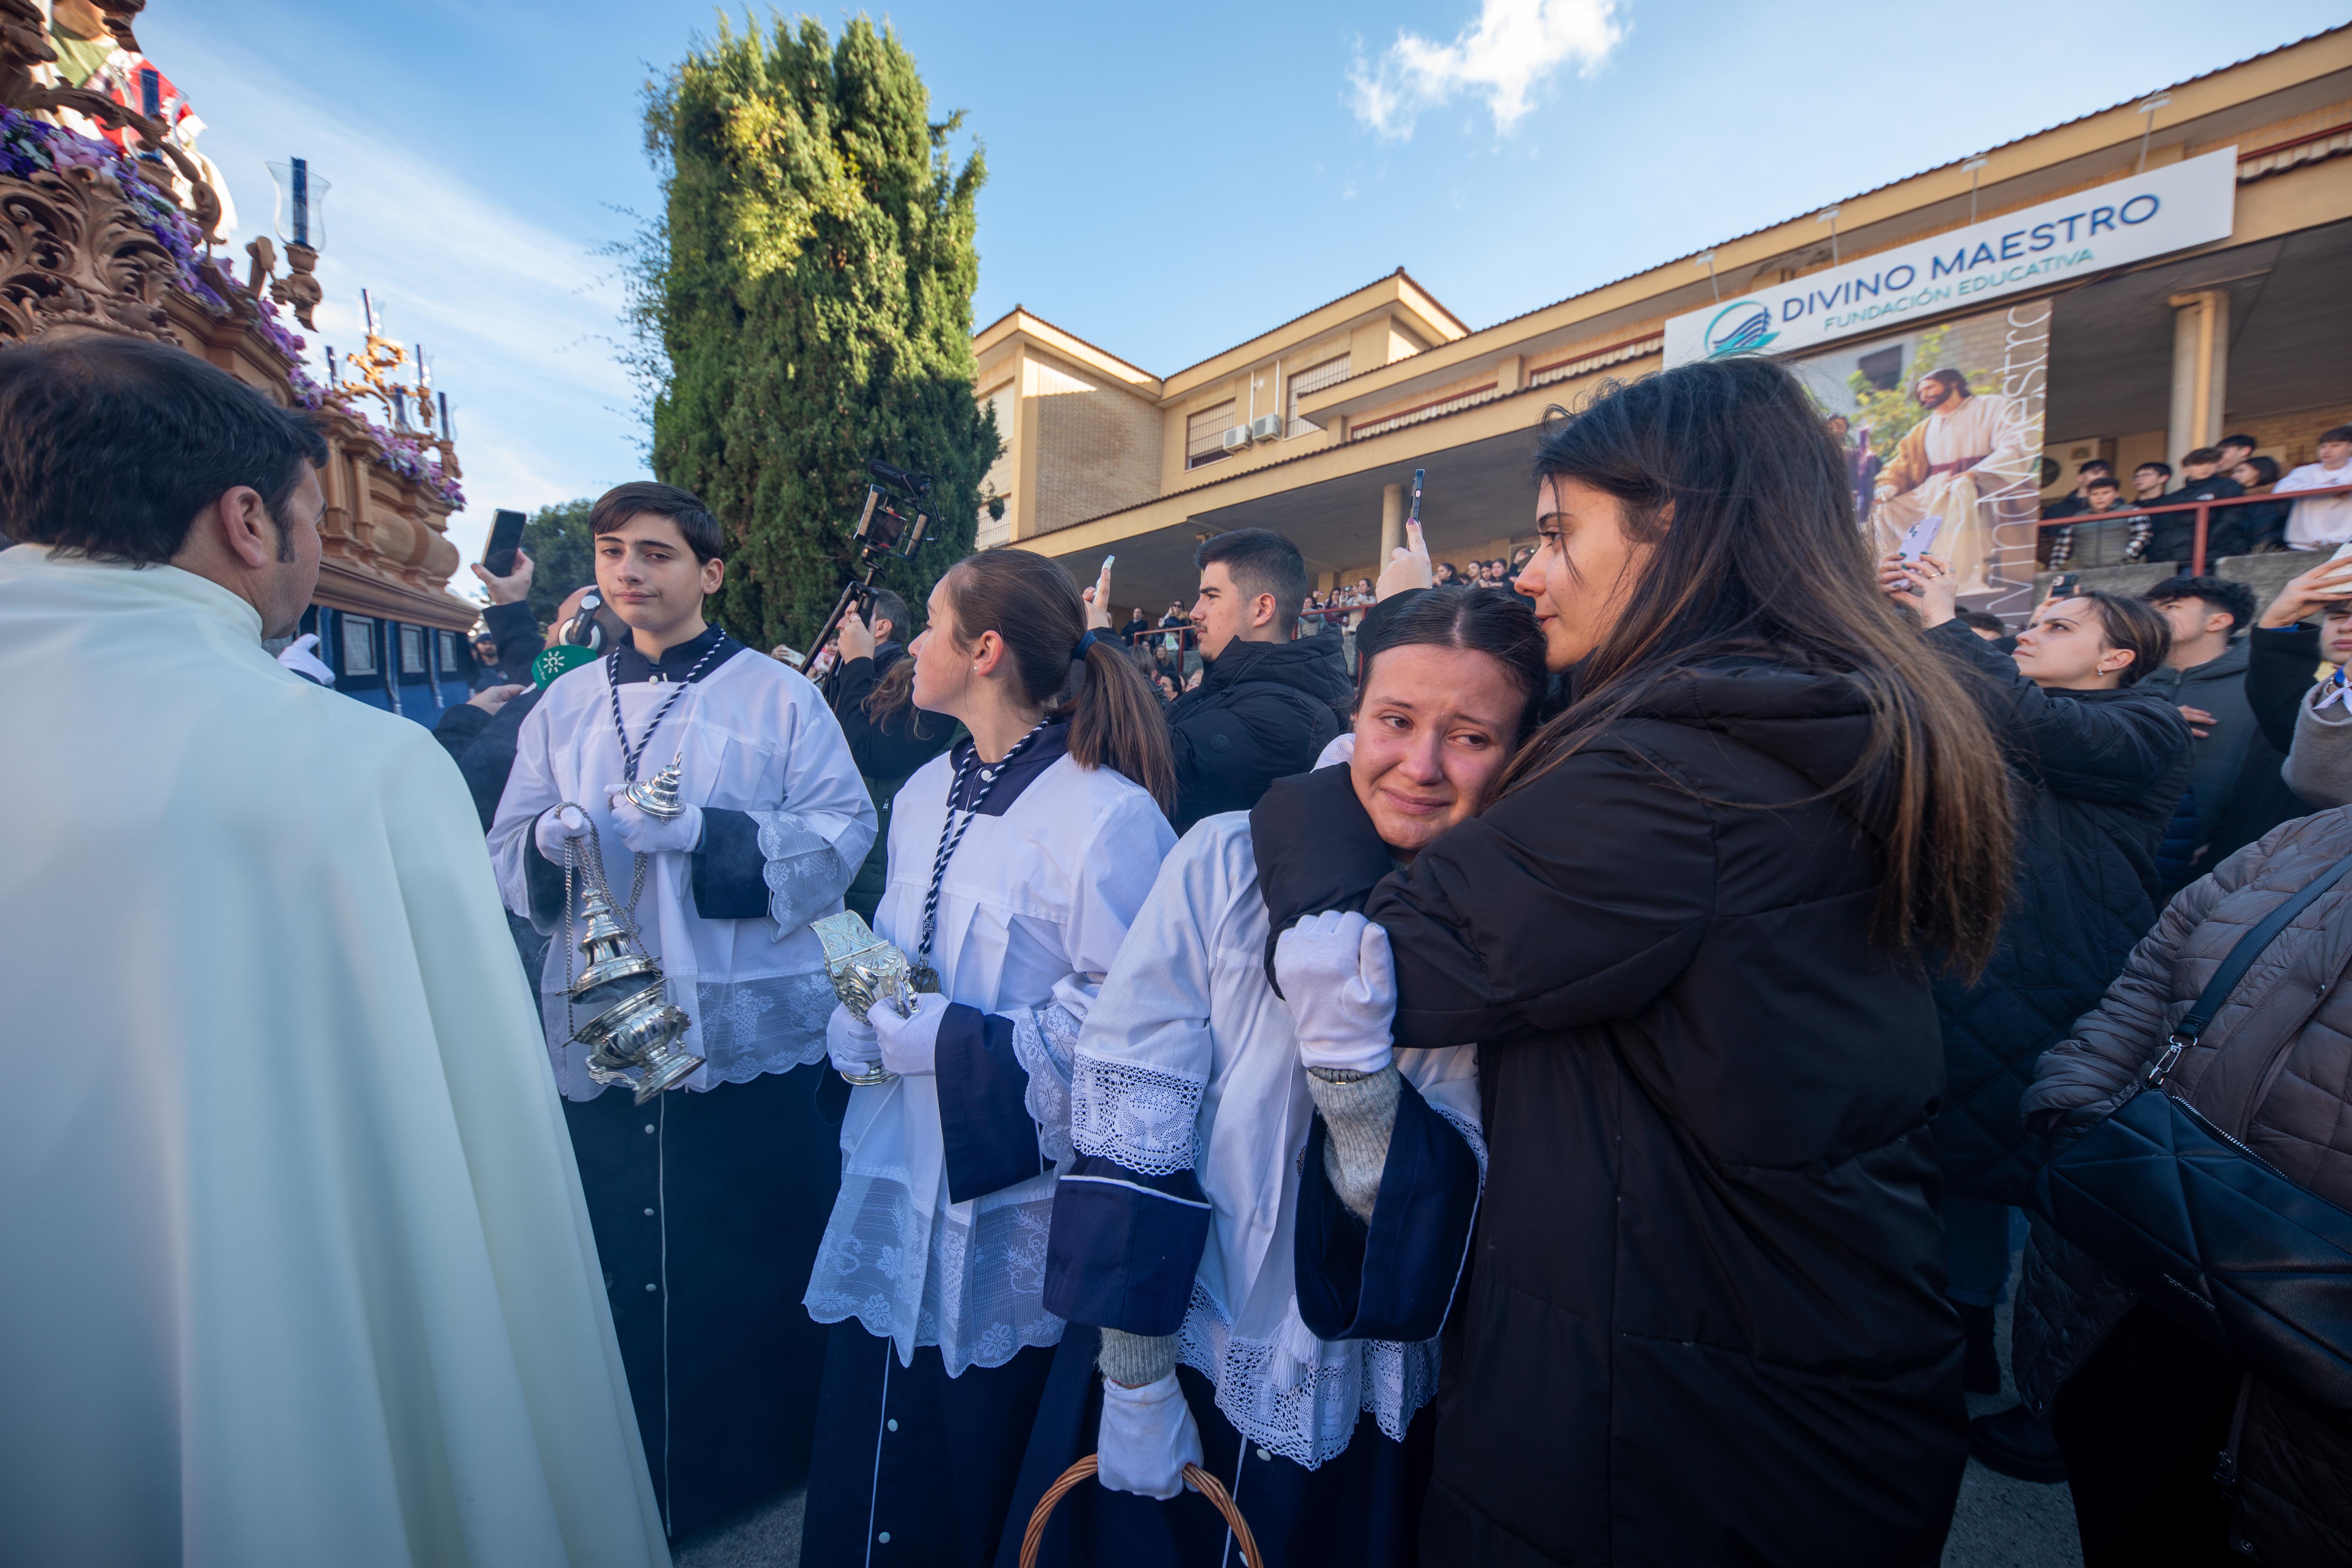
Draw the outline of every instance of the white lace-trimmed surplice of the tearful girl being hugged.
<instances>
[{"instance_id":1,"label":"white lace-trimmed surplice of the tearful girl being hugged","mask_svg":"<svg viewBox=\"0 0 2352 1568\"><path fill-rule=\"evenodd\" d=\"M1315 1100L1291 1011L1265 980L1265 898L1247 811L1202 818L1160 867L1077 1039L1070 1135L1129 1171L1192 1171L1209 1199L1178 1359L1232 1427L1324 1465L1371 1415L1395 1441L1437 1396L1437 1340L1317 1340L1291 1244ZM1397 1051L1397 1072L1486 1168L1477 1046Z\"/></svg>"}]
</instances>

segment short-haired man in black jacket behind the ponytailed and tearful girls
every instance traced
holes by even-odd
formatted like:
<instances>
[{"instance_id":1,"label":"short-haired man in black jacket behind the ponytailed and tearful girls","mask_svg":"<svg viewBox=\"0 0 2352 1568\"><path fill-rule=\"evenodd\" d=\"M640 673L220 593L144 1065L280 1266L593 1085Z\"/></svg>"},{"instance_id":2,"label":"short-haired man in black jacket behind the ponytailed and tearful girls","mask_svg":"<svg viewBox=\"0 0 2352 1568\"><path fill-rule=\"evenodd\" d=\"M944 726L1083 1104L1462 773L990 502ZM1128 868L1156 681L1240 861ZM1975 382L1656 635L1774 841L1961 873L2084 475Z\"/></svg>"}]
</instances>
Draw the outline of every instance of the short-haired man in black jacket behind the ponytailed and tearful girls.
<instances>
[{"instance_id":1,"label":"short-haired man in black jacket behind the ponytailed and tearful girls","mask_svg":"<svg viewBox=\"0 0 2352 1568\"><path fill-rule=\"evenodd\" d=\"M1348 703L1348 670L1331 639L1291 637L1308 602L1298 545L1272 529L1235 529L1204 538L1192 564L1207 672L1169 708L1176 832L1218 811L1249 811L1265 785L1312 769Z\"/></svg>"}]
</instances>

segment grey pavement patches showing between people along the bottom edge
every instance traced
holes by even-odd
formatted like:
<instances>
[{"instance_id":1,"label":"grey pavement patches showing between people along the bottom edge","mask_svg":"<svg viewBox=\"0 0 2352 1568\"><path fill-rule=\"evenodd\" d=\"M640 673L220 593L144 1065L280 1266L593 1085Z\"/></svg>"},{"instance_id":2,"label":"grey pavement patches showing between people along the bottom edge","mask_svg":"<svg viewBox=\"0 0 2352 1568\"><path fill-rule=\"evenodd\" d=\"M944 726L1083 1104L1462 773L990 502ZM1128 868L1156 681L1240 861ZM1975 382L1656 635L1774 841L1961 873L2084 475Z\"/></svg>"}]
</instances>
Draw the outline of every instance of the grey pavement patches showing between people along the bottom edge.
<instances>
[{"instance_id":1,"label":"grey pavement patches showing between people along the bottom edge","mask_svg":"<svg viewBox=\"0 0 2352 1568\"><path fill-rule=\"evenodd\" d=\"M2002 1392L1969 1399L1973 1415L2016 1403L2009 1387L2009 1307L1999 1312ZM677 1542L677 1568L797 1568L802 1493L750 1509ZM2011 1481L1969 1462L1943 1568L2082 1568L2074 1502L2065 1486Z\"/></svg>"}]
</instances>

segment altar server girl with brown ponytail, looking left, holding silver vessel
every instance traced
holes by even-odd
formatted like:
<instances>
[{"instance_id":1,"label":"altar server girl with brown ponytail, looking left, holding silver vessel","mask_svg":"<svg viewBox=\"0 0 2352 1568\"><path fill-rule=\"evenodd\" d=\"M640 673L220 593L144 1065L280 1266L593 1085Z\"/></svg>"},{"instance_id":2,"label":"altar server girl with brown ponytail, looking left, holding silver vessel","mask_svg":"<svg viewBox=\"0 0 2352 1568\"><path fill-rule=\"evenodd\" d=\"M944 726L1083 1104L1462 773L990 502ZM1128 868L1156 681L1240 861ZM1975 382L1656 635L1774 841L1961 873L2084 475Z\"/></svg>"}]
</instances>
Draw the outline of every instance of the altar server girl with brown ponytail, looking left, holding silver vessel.
<instances>
[{"instance_id":1,"label":"altar server girl with brown ponytail, looking left, holding silver vessel","mask_svg":"<svg viewBox=\"0 0 2352 1568\"><path fill-rule=\"evenodd\" d=\"M1160 705L1061 567L953 567L915 705L971 731L898 790L875 931L934 990L828 1037L842 1192L807 1307L833 1324L802 1563L983 1566L1063 1324L1047 1312L1070 1048L1176 835Z\"/></svg>"}]
</instances>

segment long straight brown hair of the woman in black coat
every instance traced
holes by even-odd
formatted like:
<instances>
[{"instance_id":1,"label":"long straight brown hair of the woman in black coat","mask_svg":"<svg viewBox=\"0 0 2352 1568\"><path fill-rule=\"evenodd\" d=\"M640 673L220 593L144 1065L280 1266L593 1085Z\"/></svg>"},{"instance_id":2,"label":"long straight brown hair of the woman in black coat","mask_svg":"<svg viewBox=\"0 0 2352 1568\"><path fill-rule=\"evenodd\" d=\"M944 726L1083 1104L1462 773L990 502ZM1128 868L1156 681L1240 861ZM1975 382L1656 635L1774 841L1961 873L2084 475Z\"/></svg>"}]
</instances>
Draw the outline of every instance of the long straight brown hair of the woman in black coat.
<instances>
[{"instance_id":1,"label":"long straight brown hair of the woman in black coat","mask_svg":"<svg viewBox=\"0 0 2352 1568\"><path fill-rule=\"evenodd\" d=\"M1748 654L1846 675L1870 703L1870 745L1825 795L1884 858L1877 938L1983 971L2011 879L2002 748L1877 588L1844 461L1797 378L1733 357L1606 386L1576 414L1548 414L1536 484L1550 477L1616 496L1651 557L1576 701L1512 759L1503 790L1559 766L1693 663Z\"/></svg>"}]
</instances>

